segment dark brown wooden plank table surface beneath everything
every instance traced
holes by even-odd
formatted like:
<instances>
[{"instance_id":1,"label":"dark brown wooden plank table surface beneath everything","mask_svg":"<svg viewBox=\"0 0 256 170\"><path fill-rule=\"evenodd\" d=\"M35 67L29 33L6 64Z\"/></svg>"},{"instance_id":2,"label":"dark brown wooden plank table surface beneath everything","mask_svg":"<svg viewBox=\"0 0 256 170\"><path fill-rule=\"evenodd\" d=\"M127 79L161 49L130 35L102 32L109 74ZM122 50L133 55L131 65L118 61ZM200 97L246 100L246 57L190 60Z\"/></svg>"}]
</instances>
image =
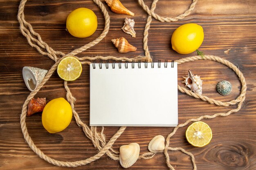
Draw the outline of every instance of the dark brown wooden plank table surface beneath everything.
<instances>
[{"instance_id":1,"label":"dark brown wooden plank table surface beneath everything","mask_svg":"<svg viewBox=\"0 0 256 170\"><path fill-rule=\"evenodd\" d=\"M101 0L103 1L103 0ZM136 0L122 0L124 6L135 13L136 38L124 33L121 27L127 15L118 15L110 11L110 30L106 38L78 56L114 55L133 57L144 55L143 32L147 13ZM145 0L151 5L152 0ZM162 16L177 16L188 9L191 0L160 0L156 13ZM22 78L24 66L34 66L49 70L54 62L29 46L20 33L16 19L19 0L0 0L0 170L65 170L40 159L27 145L20 128L21 107L29 90ZM87 7L98 17L97 31L88 38L74 38L65 31L67 15L74 9ZM242 71L247 82L245 102L238 113L228 117L203 120L212 129L213 139L203 148L191 146L185 137L184 128L180 128L171 138L171 147L182 147L193 153L198 170L256 170L256 3L255 0L198 0L191 15L178 22L159 22L153 19L148 46L155 60L177 60L196 55L180 55L171 49L171 35L180 25L186 23L200 24L204 29L204 42L200 50L207 55L217 55L235 64ZM104 28L104 18L90 0L29 0L25 7L25 18L32 24L42 39L53 49L70 52L97 38ZM137 47L136 52L121 54L113 46L111 39L124 36ZM178 67L178 84L188 69L202 77L203 95L230 101L240 94L240 82L236 74L227 66L212 61L197 61L181 64ZM221 96L216 91L220 80L228 80L233 86L231 95ZM83 65L79 79L68 83L76 97L76 111L81 119L89 123L90 83L89 66ZM157 87L152 89L157 92ZM65 97L63 81L55 72L43 86L36 97L48 100ZM178 92L179 123L200 115L213 115L227 112L236 106L215 106ZM149 106L150 107L150 106ZM92 142L72 119L62 132L49 134L42 126L41 113L27 118L29 135L34 143L46 155L62 161L86 159L97 153ZM118 127L105 127L107 139ZM148 152L149 141L155 135L166 137L173 128L170 127L128 127L114 144L115 149L121 145L136 142L140 153ZM169 152L170 162L176 170L191 170L189 156L182 152ZM71 168L70 168L71 169ZM107 156L88 165L72 168L73 170L115 170L123 169L118 161ZM162 153L152 159L138 160L131 170L167 170Z\"/></svg>"}]
</instances>

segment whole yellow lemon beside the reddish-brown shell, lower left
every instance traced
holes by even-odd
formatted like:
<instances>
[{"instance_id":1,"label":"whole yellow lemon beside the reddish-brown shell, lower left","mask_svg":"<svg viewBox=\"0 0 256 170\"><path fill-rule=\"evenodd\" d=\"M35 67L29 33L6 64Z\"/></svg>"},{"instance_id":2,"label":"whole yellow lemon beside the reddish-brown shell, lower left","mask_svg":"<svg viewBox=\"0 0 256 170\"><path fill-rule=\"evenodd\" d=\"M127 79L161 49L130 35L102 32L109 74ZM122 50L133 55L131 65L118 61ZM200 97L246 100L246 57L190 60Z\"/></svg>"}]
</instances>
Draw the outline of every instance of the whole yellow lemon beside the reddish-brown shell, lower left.
<instances>
[{"instance_id":1,"label":"whole yellow lemon beside the reddish-brown shell, lower left","mask_svg":"<svg viewBox=\"0 0 256 170\"><path fill-rule=\"evenodd\" d=\"M44 128L50 133L64 130L72 119L72 108L64 98L52 99L45 105L42 114Z\"/></svg>"}]
</instances>

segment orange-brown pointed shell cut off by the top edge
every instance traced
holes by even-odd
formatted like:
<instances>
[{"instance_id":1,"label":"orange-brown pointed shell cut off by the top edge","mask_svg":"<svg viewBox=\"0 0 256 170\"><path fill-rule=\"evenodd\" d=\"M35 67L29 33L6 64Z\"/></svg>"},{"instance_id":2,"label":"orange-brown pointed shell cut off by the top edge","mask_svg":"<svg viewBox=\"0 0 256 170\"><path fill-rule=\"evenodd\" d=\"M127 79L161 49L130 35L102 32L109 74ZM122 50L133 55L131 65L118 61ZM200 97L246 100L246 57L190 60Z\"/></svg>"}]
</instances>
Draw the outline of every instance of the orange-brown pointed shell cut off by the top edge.
<instances>
[{"instance_id":1,"label":"orange-brown pointed shell cut off by the top edge","mask_svg":"<svg viewBox=\"0 0 256 170\"><path fill-rule=\"evenodd\" d=\"M110 7L111 11L119 14L126 14L134 16L134 13L126 9L119 0L105 0Z\"/></svg>"}]
</instances>

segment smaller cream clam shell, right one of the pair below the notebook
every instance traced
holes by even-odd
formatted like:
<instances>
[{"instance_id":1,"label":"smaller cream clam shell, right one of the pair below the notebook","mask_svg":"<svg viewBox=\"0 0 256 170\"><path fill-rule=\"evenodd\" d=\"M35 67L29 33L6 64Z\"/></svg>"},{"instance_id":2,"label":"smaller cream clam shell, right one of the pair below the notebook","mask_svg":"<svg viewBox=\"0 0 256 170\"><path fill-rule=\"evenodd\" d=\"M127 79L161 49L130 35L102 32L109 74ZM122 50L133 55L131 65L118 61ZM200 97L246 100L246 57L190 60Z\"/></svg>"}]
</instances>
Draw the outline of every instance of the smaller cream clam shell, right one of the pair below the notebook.
<instances>
[{"instance_id":1,"label":"smaller cream clam shell, right one of the pair below the notebook","mask_svg":"<svg viewBox=\"0 0 256 170\"><path fill-rule=\"evenodd\" d=\"M153 137L148 144L148 150L153 153L164 150L164 140L165 139L162 135Z\"/></svg>"}]
</instances>

